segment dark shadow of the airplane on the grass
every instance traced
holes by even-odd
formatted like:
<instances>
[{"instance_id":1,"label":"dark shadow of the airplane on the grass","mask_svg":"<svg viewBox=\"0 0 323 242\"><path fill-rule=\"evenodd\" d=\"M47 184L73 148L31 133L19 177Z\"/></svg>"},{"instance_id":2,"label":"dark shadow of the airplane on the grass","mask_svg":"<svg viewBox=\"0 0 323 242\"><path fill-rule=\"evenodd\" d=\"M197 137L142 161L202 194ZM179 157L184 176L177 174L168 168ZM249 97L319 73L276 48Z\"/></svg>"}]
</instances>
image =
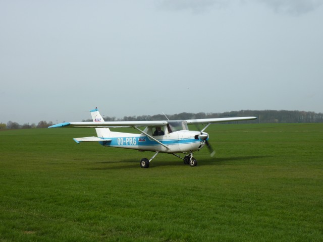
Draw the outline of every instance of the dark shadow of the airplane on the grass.
<instances>
[{"instance_id":1,"label":"dark shadow of the airplane on the grass","mask_svg":"<svg viewBox=\"0 0 323 242\"><path fill-rule=\"evenodd\" d=\"M271 155L264 155L264 156L235 156L235 157L222 157L222 158L207 158L207 159L197 159L197 166L206 166L206 165L224 165L225 162L229 161L248 161L253 159L261 159L261 158L269 158L272 157ZM125 169L125 168L140 168L139 160L136 159L124 159L118 161L101 161L96 162L96 164L116 164L119 163L120 165L112 165L107 167L96 167L90 168L91 170L110 170L110 169ZM126 164L125 164L126 163ZM188 166L185 165L184 162L180 159L178 161L151 161L150 168L157 168L160 166Z\"/></svg>"}]
</instances>

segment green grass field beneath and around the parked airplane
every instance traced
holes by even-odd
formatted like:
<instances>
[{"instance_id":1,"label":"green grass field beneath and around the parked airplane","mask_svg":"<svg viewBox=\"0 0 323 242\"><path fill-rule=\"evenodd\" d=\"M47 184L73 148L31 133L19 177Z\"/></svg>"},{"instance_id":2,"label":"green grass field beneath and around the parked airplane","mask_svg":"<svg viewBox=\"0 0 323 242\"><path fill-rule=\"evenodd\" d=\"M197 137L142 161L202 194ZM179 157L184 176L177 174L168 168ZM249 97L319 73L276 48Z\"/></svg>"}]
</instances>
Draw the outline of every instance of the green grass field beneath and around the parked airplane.
<instances>
[{"instance_id":1,"label":"green grass field beneath and around the parked airplane","mask_svg":"<svg viewBox=\"0 0 323 242\"><path fill-rule=\"evenodd\" d=\"M323 124L206 132L215 157L148 169L94 129L0 132L0 241L323 241Z\"/></svg>"}]
</instances>

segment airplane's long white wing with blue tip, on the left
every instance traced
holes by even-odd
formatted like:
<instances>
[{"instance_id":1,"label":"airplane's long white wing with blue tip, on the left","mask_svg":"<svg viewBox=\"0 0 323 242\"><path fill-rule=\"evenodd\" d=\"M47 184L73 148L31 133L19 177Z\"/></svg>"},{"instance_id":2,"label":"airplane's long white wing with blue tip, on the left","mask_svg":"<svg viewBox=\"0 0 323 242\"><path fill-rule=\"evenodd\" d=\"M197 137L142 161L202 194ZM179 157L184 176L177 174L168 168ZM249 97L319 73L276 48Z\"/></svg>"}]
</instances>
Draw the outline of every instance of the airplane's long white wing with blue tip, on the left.
<instances>
[{"instance_id":1,"label":"airplane's long white wing with blue tip, on the left","mask_svg":"<svg viewBox=\"0 0 323 242\"><path fill-rule=\"evenodd\" d=\"M167 125L167 121L66 122L48 128L125 128Z\"/></svg>"}]
</instances>

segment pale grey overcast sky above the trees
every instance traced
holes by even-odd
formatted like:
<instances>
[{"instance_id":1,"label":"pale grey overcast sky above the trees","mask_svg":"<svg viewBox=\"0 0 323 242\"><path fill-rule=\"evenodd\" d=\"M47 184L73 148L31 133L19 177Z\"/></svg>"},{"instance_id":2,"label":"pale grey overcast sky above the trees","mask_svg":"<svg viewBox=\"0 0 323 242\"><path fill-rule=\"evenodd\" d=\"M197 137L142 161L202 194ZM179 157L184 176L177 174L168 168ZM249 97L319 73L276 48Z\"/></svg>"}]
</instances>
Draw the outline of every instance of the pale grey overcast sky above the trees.
<instances>
[{"instance_id":1,"label":"pale grey overcast sky above the trees","mask_svg":"<svg viewBox=\"0 0 323 242\"><path fill-rule=\"evenodd\" d=\"M0 123L323 112L323 0L0 0Z\"/></svg>"}]
</instances>

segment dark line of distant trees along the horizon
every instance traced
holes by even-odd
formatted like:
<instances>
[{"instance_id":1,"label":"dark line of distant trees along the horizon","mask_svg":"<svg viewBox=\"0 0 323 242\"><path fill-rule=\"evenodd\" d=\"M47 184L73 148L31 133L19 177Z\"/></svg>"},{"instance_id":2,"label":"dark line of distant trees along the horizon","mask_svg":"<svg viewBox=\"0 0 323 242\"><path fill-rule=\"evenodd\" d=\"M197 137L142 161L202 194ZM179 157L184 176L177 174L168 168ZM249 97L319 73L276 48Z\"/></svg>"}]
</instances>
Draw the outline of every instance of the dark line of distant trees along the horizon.
<instances>
[{"instance_id":1,"label":"dark line of distant trees along the horizon","mask_svg":"<svg viewBox=\"0 0 323 242\"><path fill-rule=\"evenodd\" d=\"M166 117L167 116L167 117ZM323 113L311 111L288 111L288 110L240 110L222 113L205 113L205 112L181 112L177 114L156 114L156 115L140 115L140 116L124 116L123 118L104 116L105 121L143 121L143 120L181 120L196 118L217 118L217 117L239 117L239 116L256 116L258 119L248 121L238 121L234 123L252 124L252 123L323 123ZM92 119L84 119L92 121ZM20 125L16 122L9 121L7 124L0 124L0 129L40 129L48 128L53 125L52 122L40 121L36 124Z\"/></svg>"}]
</instances>

